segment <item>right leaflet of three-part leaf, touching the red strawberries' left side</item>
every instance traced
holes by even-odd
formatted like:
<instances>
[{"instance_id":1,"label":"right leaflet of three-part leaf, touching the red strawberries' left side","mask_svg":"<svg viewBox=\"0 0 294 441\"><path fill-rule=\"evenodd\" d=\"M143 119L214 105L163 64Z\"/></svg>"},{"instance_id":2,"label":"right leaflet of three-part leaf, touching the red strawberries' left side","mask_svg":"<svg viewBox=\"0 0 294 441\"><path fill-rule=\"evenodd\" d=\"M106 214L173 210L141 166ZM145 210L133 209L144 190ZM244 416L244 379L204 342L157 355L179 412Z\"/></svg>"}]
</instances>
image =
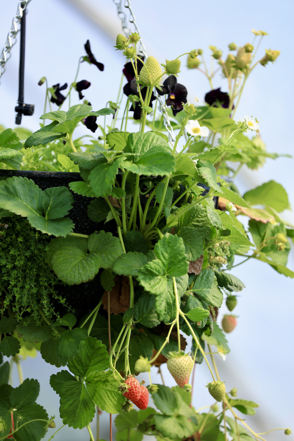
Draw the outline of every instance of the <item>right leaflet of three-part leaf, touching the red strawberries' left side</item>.
<instances>
[{"instance_id":1,"label":"right leaflet of three-part leaf, touching the red strawberries' left side","mask_svg":"<svg viewBox=\"0 0 294 441\"><path fill-rule=\"evenodd\" d=\"M113 376L112 371L93 372L86 378L86 386L97 406L108 413L117 414L125 398L119 390L120 382Z\"/></svg>"}]
</instances>

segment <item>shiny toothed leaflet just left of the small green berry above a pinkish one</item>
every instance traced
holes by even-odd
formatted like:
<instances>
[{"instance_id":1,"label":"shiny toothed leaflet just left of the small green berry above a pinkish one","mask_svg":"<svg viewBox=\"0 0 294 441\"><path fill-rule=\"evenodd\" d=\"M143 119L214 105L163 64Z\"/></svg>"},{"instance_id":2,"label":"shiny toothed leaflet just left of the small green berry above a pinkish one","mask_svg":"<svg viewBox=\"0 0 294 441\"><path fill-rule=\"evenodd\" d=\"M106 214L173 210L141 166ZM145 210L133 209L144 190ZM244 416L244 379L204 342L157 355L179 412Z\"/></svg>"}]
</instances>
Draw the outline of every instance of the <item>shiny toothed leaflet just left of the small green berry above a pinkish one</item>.
<instances>
[{"instance_id":1,"label":"shiny toothed leaflet just left of the small green berry above a pinkish one","mask_svg":"<svg viewBox=\"0 0 294 441\"><path fill-rule=\"evenodd\" d=\"M216 276L211 269L202 269L196 277L192 291L208 305L220 308L223 303L223 293L218 287Z\"/></svg>"}]
</instances>

